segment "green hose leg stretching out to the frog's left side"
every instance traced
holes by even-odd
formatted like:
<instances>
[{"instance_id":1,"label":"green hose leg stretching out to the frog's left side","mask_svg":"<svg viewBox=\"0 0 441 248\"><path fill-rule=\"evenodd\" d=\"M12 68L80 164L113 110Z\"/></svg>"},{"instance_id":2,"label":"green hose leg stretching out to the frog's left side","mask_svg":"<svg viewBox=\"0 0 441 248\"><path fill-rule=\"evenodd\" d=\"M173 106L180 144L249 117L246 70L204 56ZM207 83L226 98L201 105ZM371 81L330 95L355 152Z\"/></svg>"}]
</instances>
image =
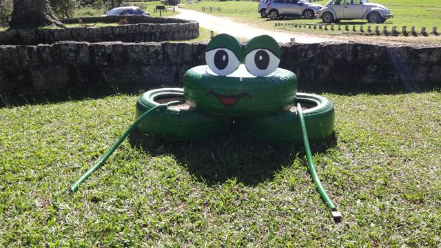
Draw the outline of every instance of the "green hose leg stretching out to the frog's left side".
<instances>
[{"instance_id":1,"label":"green hose leg stretching out to the frog's left side","mask_svg":"<svg viewBox=\"0 0 441 248\"><path fill-rule=\"evenodd\" d=\"M124 134L121 135L121 137L119 137L118 141L116 141L116 143L114 143L114 145L107 151L107 153L104 154L104 156L98 161L98 163L96 163L92 168L90 168L88 170L88 172L85 172L85 174L83 174L83 176L81 176L81 178L76 180L76 182L72 185L72 187L70 187L70 191L76 192L76 189L78 189L78 186L81 183L83 183L83 181L86 180L94 171L96 171L96 169L98 169L101 165L103 165L103 163L105 161L107 161L107 158L109 158L110 155L112 155L112 153L116 150L116 148L118 148L119 145L121 145L121 143L123 143L124 139L127 138L127 136L130 134L130 132L132 132L134 127L136 127L141 121L143 121L143 119L146 116L148 116L150 113L152 113L160 108L167 107L169 105L178 104L178 103L181 103L181 102L180 101L172 101L169 103L160 104L155 107L152 107L150 110L148 110L147 112L145 112L144 114L139 116L139 118L137 118L136 121L134 121L134 123L132 123L132 125L130 125L130 127L127 130L125 130Z\"/></svg>"}]
</instances>

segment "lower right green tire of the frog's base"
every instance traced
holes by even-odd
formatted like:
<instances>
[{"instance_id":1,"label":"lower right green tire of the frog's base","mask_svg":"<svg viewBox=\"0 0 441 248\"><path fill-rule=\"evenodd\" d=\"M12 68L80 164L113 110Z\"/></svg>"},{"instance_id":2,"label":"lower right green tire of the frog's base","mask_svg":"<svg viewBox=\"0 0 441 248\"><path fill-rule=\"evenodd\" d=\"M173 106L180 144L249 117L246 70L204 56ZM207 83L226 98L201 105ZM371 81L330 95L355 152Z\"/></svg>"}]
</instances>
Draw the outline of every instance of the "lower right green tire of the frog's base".
<instances>
[{"instance_id":1,"label":"lower right green tire of the frog's base","mask_svg":"<svg viewBox=\"0 0 441 248\"><path fill-rule=\"evenodd\" d=\"M309 105L303 110L309 141L323 141L334 132L334 105L316 94L297 93L295 104ZM314 106L314 107L313 107ZM260 141L302 143L302 130L297 112L280 112L268 116L237 118L239 130Z\"/></svg>"}]
</instances>

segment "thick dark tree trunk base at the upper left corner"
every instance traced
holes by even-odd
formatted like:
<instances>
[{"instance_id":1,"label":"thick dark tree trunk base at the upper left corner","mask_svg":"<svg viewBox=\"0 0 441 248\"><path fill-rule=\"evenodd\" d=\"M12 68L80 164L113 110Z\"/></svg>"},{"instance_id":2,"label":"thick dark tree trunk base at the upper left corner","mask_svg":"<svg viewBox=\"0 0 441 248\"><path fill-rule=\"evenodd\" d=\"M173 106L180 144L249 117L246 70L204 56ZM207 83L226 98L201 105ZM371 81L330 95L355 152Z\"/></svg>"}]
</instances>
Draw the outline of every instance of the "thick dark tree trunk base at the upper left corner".
<instances>
[{"instance_id":1,"label":"thick dark tree trunk base at the upper left corner","mask_svg":"<svg viewBox=\"0 0 441 248\"><path fill-rule=\"evenodd\" d=\"M9 23L11 29L37 28L47 25L57 25L65 28L55 17L49 0L14 0L14 10Z\"/></svg>"}]
</instances>

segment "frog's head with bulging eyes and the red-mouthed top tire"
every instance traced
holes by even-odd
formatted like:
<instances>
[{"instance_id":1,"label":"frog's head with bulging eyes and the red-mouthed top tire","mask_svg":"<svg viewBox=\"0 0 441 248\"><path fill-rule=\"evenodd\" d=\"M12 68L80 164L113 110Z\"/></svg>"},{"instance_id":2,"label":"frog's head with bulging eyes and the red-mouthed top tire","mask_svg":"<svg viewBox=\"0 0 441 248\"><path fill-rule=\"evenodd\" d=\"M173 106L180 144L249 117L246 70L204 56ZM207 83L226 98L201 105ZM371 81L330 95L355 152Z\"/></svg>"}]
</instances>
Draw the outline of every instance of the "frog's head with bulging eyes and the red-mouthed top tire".
<instances>
[{"instance_id":1,"label":"frog's head with bulging eyes and the red-mouthed top tire","mask_svg":"<svg viewBox=\"0 0 441 248\"><path fill-rule=\"evenodd\" d=\"M184 96L198 110L231 116L280 112L294 102L296 75L278 68L278 43L267 35L254 37L242 47L228 35L218 34L207 44L207 65L184 75Z\"/></svg>"}]
</instances>

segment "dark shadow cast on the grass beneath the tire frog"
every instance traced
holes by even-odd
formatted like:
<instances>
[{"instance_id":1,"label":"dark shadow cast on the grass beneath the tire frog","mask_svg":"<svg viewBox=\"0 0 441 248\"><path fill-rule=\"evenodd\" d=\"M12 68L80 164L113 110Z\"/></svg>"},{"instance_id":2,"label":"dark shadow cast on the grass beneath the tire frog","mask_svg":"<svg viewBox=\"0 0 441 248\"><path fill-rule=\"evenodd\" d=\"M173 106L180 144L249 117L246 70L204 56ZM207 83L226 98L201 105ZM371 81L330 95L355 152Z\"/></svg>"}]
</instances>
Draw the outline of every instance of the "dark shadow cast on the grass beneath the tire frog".
<instances>
[{"instance_id":1,"label":"dark shadow cast on the grass beneath the tire frog","mask_svg":"<svg viewBox=\"0 0 441 248\"><path fill-rule=\"evenodd\" d=\"M206 185L233 178L244 185L257 185L274 178L283 167L291 166L297 156L305 155L302 145L288 147L262 143L234 129L225 137L207 141L170 141L136 130L130 134L129 142L152 156L173 156L178 164ZM336 138L332 136L325 142L311 144L311 150L324 154L336 145Z\"/></svg>"}]
</instances>

